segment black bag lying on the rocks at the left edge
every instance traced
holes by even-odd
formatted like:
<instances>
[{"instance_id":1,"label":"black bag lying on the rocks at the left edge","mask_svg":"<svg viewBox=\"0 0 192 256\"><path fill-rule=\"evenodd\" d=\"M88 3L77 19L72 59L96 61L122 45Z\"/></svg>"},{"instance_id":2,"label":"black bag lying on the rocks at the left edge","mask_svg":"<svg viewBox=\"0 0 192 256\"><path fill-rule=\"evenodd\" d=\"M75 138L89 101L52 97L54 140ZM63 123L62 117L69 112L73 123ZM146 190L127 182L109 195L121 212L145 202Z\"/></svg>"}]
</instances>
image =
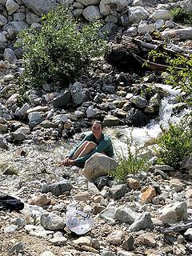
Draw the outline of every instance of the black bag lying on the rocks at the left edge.
<instances>
[{"instance_id":1,"label":"black bag lying on the rocks at the left edge","mask_svg":"<svg viewBox=\"0 0 192 256\"><path fill-rule=\"evenodd\" d=\"M22 210L24 208L24 203L19 199L11 197L10 195L0 195L0 210Z\"/></svg>"}]
</instances>

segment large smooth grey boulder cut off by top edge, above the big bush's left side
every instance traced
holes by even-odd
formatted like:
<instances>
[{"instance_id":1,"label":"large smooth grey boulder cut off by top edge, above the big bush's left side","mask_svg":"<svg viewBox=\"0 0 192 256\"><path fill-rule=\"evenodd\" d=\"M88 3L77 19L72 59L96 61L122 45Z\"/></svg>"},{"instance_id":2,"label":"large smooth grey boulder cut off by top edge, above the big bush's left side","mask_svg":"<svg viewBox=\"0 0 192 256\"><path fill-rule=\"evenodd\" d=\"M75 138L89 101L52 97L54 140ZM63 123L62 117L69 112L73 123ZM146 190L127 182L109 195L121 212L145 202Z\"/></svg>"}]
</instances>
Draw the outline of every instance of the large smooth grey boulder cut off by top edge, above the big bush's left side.
<instances>
[{"instance_id":1,"label":"large smooth grey boulder cut off by top edge, above the big bush's left side","mask_svg":"<svg viewBox=\"0 0 192 256\"><path fill-rule=\"evenodd\" d=\"M57 6L57 3L53 0L22 0L22 2L29 10L38 16L46 14Z\"/></svg>"}]
</instances>

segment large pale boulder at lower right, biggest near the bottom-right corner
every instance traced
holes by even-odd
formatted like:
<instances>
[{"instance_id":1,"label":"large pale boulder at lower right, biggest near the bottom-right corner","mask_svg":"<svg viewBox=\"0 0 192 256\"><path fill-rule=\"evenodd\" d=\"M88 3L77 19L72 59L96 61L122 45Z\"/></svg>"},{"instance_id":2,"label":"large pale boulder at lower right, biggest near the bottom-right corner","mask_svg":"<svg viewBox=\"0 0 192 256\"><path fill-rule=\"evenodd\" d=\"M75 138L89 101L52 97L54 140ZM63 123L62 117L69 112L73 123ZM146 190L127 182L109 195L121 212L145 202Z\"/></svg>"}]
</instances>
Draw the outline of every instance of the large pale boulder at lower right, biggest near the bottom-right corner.
<instances>
[{"instance_id":1,"label":"large pale boulder at lower right, biggest near the bottom-right corner","mask_svg":"<svg viewBox=\"0 0 192 256\"><path fill-rule=\"evenodd\" d=\"M171 203L164 207L161 212L162 214L160 215L159 219L163 223L173 224L186 221L188 218L186 202Z\"/></svg>"}]
</instances>

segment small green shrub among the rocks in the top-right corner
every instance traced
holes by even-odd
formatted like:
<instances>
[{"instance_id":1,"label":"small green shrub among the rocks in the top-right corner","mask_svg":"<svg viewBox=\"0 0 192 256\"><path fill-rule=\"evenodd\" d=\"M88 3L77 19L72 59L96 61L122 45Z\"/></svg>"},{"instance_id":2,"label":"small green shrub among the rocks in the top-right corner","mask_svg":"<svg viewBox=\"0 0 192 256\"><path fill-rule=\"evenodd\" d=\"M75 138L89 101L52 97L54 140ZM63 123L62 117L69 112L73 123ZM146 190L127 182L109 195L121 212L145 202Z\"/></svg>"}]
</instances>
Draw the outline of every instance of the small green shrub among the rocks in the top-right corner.
<instances>
[{"instance_id":1,"label":"small green shrub among the rocks in the top-right corner","mask_svg":"<svg viewBox=\"0 0 192 256\"><path fill-rule=\"evenodd\" d=\"M174 22L181 23L183 25L192 25L192 13L185 10L182 7L176 7L170 11Z\"/></svg>"}]
</instances>

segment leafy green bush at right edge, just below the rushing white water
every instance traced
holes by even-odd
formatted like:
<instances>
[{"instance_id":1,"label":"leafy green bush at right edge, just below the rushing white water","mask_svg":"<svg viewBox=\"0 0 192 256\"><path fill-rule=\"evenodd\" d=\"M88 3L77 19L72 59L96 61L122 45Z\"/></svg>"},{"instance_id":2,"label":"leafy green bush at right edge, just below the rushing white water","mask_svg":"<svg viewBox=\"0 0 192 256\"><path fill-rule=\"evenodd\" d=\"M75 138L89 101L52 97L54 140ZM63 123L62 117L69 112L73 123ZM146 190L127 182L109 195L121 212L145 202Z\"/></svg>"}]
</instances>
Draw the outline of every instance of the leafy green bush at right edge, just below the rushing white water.
<instances>
[{"instance_id":1,"label":"leafy green bush at right edge, just below the rushing white water","mask_svg":"<svg viewBox=\"0 0 192 256\"><path fill-rule=\"evenodd\" d=\"M176 170L180 167L182 159L192 152L192 129L189 126L191 117L183 118L177 125L171 124L169 129L162 128L162 134L157 139L160 149L158 163L173 166Z\"/></svg>"}]
</instances>

